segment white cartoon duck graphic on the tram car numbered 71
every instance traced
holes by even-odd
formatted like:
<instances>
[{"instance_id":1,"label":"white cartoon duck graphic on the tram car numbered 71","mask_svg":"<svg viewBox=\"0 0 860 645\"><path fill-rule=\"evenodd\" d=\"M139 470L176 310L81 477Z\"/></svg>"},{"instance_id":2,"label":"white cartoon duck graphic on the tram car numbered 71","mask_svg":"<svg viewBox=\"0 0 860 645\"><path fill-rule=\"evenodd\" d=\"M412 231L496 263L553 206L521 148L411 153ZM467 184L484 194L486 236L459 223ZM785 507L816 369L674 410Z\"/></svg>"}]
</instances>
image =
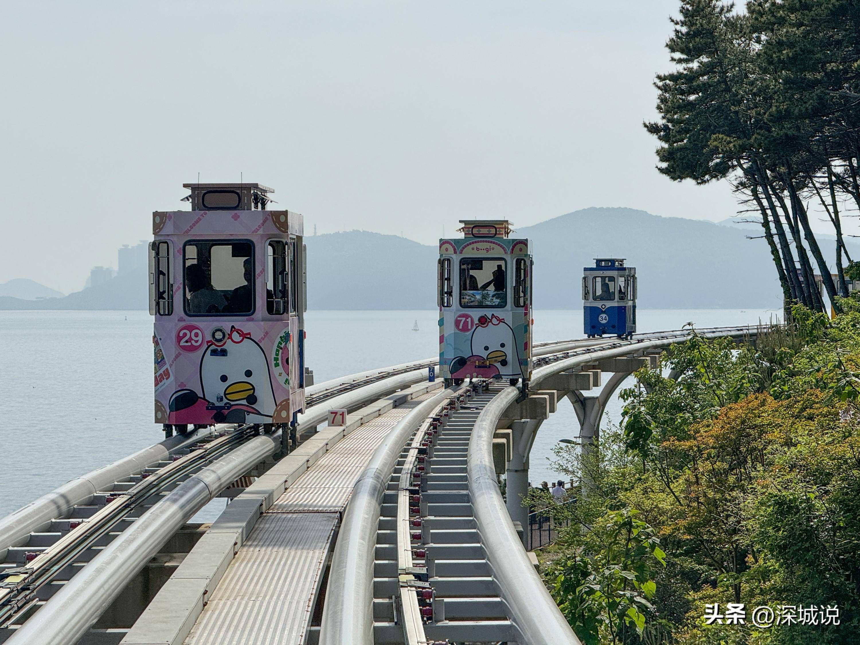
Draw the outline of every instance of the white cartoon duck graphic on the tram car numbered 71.
<instances>
[{"instance_id":1,"label":"white cartoon duck graphic on the tram car numbered 71","mask_svg":"<svg viewBox=\"0 0 860 645\"><path fill-rule=\"evenodd\" d=\"M451 361L451 378L522 376L513 329L499 316L478 316L471 337L471 355Z\"/></svg>"}]
</instances>

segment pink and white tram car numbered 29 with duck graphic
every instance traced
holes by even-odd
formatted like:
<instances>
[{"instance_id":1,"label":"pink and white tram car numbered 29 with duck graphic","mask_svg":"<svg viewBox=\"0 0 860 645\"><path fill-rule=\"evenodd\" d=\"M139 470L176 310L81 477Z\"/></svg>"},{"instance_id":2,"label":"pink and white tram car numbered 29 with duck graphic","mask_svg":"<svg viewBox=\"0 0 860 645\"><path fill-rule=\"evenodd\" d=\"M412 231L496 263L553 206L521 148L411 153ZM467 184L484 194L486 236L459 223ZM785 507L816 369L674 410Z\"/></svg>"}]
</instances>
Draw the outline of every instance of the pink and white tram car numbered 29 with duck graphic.
<instances>
[{"instance_id":1,"label":"pink and white tram car numbered 29 with duck graphic","mask_svg":"<svg viewBox=\"0 0 860 645\"><path fill-rule=\"evenodd\" d=\"M302 216L257 183L182 186L190 212L152 213L155 421L292 426L310 385Z\"/></svg>"}]
</instances>

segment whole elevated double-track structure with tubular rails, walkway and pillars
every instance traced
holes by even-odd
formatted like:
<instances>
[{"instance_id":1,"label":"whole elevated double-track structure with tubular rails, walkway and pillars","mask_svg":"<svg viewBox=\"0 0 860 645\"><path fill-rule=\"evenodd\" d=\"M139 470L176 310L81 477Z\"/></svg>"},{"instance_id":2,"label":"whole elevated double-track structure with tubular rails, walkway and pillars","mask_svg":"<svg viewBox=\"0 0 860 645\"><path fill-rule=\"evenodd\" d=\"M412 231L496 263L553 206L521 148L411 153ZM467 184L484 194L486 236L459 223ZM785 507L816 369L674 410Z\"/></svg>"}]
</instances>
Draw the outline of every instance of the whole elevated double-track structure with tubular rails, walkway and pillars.
<instances>
[{"instance_id":1,"label":"whole elevated double-track structure with tubular rails, walkway and pillars","mask_svg":"<svg viewBox=\"0 0 860 645\"><path fill-rule=\"evenodd\" d=\"M568 397L588 450L689 334L538 345L526 392L444 389L437 359L353 374L308 390L295 436L215 427L72 480L0 519L0 642L578 643L523 545L531 446Z\"/></svg>"}]
</instances>

